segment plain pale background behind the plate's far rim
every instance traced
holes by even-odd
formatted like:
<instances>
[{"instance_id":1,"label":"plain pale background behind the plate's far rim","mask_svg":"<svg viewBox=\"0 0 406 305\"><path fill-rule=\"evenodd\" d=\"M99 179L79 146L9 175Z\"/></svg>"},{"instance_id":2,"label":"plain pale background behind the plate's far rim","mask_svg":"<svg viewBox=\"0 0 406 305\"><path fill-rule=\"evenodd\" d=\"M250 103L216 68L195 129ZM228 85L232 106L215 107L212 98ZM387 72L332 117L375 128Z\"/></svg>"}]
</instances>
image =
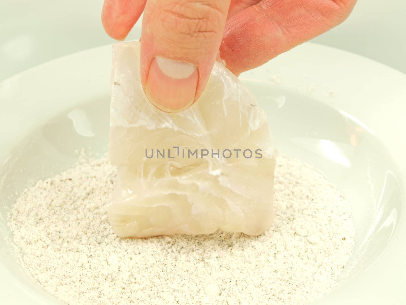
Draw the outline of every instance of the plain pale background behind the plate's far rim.
<instances>
[{"instance_id":1,"label":"plain pale background behind the plate's far rim","mask_svg":"<svg viewBox=\"0 0 406 305\"><path fill-rule=\"evenodd\" d=\"M0 0L0 81L51 59L113 43L100 21L102 3ZM314 41L406 73L405 11L404 0L358 0L346 22Z\"/></svg>"}]
</instances>

